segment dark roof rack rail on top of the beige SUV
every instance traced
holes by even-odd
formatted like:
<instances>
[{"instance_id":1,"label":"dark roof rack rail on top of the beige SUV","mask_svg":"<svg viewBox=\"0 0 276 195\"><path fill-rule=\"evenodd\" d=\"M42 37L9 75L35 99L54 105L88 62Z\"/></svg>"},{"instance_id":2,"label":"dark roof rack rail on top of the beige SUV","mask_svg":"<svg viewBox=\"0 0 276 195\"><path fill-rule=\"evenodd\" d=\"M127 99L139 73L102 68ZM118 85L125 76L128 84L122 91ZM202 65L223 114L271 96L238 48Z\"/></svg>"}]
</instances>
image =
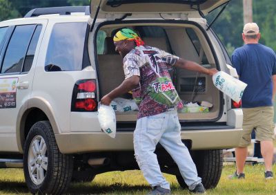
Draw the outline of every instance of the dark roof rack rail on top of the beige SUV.
<instances>
[{"instance_id":1,"label":"dark roof rack rail on top of the beige SUV","mask_svg":"<svg viewBox=\"0 0 276 195\"><path fill-rule=\"evenodd\" d=\"M65 6L52 8L35 8L30 10L24 17L38 17L40 15L70 15L72 12L84 12L90 15L90 6Z\"/></svg>"}]
</instances>

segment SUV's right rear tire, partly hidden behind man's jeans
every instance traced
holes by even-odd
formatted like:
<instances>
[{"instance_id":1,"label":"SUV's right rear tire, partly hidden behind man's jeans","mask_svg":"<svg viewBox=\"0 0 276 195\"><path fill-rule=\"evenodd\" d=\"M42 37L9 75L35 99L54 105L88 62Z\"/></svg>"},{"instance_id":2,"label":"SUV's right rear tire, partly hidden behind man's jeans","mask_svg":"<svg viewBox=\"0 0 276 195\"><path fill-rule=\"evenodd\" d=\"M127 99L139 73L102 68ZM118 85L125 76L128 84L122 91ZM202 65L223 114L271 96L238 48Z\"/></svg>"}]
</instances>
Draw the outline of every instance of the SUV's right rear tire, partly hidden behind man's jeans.
<instances>
[{"instance_id":1,"label":"SUV's right rear tire, partly hidden behind man's jeans","mask_svg":"<svg viewBox=\"0 0 276 195\"><path fill-rule=\"evenodd\" d=\"M202 184L206 189L215 188L221 177L223 156L222 149L193 151L193 160L197 167L197 174L202 179ZM177 181L181 187L188 186L181 175L177 175Z\"/></svg>"}]
</instances>

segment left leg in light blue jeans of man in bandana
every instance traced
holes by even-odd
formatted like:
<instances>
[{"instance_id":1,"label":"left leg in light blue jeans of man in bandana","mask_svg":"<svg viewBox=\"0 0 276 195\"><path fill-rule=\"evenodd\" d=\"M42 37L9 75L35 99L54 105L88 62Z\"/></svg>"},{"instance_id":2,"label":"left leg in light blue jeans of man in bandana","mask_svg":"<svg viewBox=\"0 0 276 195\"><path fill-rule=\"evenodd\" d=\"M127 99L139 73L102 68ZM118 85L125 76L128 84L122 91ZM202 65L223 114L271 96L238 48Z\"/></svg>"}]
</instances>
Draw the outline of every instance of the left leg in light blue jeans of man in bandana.
<instances>
[{"instance_id":1,"label":"left leg in light blue jeans of man in bandana","mask_svg":"<svg viewBox=\"0 0 276 195\"><path fill-rule=\"evenodd\" d=\"M157 142L164 132L165 123L165 113L137 120L134 149L137 163L151 187L161 186L170 189L170 184L162 175L157 156L154 153Z\"/></svg>"}]
</instances>

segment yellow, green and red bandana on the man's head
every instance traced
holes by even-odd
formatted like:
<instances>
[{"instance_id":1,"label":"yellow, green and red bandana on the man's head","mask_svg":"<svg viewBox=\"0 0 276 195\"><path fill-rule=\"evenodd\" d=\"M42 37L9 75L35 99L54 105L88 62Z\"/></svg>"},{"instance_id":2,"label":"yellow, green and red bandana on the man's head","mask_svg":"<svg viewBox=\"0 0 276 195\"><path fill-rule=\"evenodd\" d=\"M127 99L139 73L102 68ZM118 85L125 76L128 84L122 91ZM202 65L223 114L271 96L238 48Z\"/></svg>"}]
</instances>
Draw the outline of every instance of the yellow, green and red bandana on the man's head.
<instances>
[{"instance_id":1,"label":"yellow, green and red bandana on the man's head","mask_svg":"<svg viewBox=\"0 0 276 195\"><path fill-rule=\"evenodd\" d=\"M119 30L116 35L113 37L113 41L122 41L122 40L130 40L135 41L137 46L144 46L144 41L135 33L133 30L129 28L123 28Z\"/></svg>"}]
</instances>

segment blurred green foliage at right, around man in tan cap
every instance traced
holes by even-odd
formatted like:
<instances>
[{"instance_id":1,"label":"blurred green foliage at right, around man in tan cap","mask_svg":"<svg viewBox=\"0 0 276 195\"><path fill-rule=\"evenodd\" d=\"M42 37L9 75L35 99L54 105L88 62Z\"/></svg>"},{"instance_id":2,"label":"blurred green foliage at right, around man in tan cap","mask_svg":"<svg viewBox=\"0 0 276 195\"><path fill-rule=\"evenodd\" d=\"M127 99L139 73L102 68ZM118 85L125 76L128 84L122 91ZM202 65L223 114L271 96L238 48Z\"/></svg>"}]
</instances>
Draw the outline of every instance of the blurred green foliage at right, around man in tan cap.
<instances>
[{"instance_id":1,"label":"blurred green foliage at right, around man in tan cap","mask_svg":"<svg viewBox=\"0 0 276 195\"><path fill-rule=\"evenodd\" d=\"M253 0L253 21L259 26L262 38L261 44L265 44L276 50L276 1L275 0ZM214 17L219 10L208 16L208 21ZM244 26L242 0L232 0L215 22L213 28L219 38L226 46L229 55L233 50L242 46L242 29Z\"/></svg>"}]
</instances>

